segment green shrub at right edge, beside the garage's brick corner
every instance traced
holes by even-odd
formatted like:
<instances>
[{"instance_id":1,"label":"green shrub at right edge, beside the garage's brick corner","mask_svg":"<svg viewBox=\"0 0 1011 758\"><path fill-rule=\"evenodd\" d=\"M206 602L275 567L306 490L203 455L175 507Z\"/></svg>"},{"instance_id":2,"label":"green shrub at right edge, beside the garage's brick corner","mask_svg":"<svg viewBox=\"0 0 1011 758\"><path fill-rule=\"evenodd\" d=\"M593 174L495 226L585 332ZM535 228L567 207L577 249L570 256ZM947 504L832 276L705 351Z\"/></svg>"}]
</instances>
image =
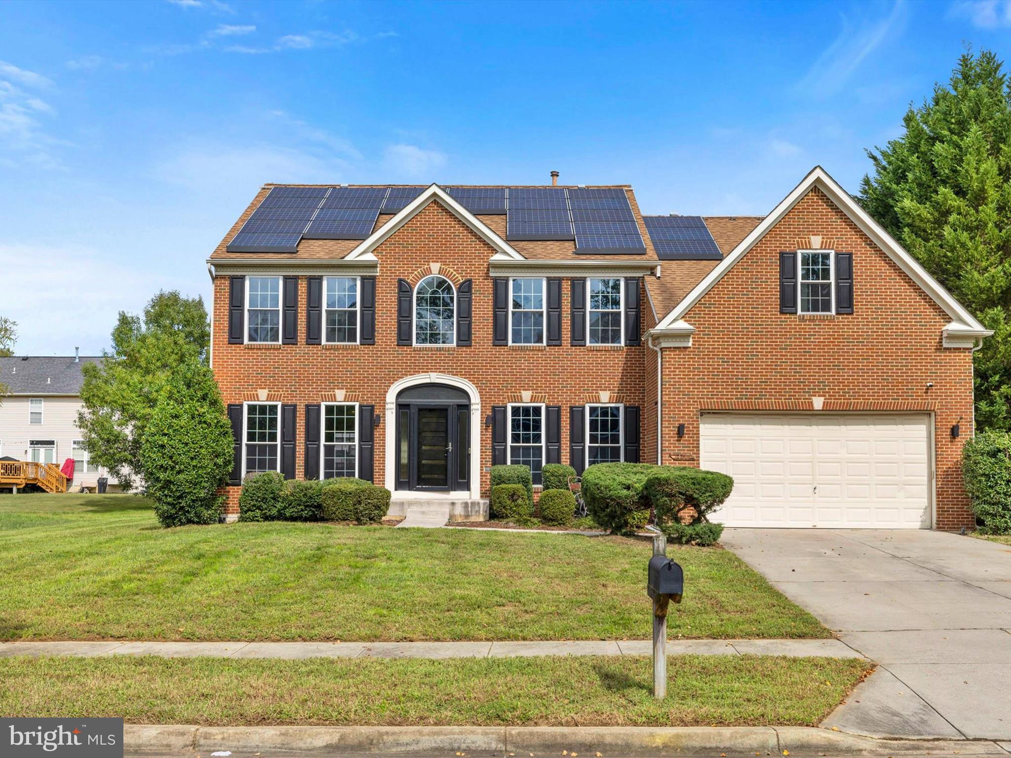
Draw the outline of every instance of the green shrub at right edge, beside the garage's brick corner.
<instances>
[{"instance_id":1,"label":"green shrub at right edge, beside the garage's brick corner","mask_svg":"<svg viewBox=\"0 0 1011 758\"><path fill-rule=\"evenodd\" d=\"M1011 433L981 432L966 443L961 476L981 531L1011 534Z\"/></svg>"}]
</instances>

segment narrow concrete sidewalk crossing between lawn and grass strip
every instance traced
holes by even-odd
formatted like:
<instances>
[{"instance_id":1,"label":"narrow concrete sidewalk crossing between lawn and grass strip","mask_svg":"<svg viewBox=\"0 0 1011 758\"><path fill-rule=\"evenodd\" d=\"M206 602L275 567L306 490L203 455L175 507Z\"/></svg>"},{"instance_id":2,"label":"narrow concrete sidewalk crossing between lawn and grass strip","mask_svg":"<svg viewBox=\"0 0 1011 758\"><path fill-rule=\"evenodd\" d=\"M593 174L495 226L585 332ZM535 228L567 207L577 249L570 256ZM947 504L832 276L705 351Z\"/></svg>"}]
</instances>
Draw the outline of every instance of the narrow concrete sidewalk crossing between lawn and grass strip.
<instances>
[{"instance_id":1,"label":"narrow concrete sidewalk crossing between lawn and grass strip","mask_svg":"<svg viewBox=\"0 0 1011 758\"><path fill-rule=\"evenodd\" d=\"M4 642L12 655L158 655L165 658L508 658L652 655L649 640L585 642ZM860 658L838 640L670 640L667 655L788 655Z\"/></svg>"}]
</instances>

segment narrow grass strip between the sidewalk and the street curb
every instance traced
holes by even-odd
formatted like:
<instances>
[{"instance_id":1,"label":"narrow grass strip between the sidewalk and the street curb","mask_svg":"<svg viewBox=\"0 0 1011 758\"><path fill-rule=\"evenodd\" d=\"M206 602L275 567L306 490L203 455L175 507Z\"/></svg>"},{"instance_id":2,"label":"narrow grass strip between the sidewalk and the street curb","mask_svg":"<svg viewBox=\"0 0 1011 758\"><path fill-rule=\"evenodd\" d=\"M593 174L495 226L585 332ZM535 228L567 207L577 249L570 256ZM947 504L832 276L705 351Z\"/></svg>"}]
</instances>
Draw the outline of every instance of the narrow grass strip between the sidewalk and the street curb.
<instances>
[{"instance_id":1,"label":"narrow grass strip between the sidewalk and the street curb","mask_svg":"<svg viewBox=\"0 0 1011 758\"><path fill-rule=\"evenodd\" d=\"M140 724L815 726L869 664L672 656L652 697L648 658L6 658L0 713Z\"/></svg>"}]
</instances>

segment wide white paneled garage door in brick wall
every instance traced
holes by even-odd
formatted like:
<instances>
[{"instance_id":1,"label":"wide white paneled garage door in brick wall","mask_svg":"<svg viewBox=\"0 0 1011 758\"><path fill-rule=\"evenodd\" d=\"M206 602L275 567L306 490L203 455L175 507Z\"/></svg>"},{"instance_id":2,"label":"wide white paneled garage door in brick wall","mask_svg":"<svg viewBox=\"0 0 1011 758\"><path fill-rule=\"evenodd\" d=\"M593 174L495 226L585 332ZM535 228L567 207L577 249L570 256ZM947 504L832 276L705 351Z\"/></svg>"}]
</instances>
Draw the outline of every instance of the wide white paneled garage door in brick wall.
<instances>
[{"instance_id":1,"label":"wide white paneled garage door in brick wall","mask_svg":"<svg viewBox=\"0 0 1011 758\"><path fill-rule=\"evenodd\" d=\"M706 413L701 464L734 477L729 527L929 529L925 413Z\"/></svg>"}]
</instances>

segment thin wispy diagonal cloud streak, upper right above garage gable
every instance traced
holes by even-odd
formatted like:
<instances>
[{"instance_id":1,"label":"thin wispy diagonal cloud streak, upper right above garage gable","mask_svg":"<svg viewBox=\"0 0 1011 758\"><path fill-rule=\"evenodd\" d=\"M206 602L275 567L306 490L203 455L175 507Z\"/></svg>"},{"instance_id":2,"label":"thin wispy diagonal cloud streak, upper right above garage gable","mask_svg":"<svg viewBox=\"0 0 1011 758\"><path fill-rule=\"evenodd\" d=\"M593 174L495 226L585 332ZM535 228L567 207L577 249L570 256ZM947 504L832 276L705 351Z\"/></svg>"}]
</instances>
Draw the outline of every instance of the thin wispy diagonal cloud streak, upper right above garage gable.
<instances>
[{"instance_id":1,"label":"thin wispy diagonal cloud streak, upper right above garage gable","mask_svg":"<svg viewBox=\"0 0 1011 758\"><path fill-rule=\"evenodd\" d=\"M870 54L898 33L905 20L903 0L895 0L888 16L872 23L861 22L854 26L843 17L839 35L808 69L796 89L814 97L838 92Z\"/></svg>"}]
</instances>

